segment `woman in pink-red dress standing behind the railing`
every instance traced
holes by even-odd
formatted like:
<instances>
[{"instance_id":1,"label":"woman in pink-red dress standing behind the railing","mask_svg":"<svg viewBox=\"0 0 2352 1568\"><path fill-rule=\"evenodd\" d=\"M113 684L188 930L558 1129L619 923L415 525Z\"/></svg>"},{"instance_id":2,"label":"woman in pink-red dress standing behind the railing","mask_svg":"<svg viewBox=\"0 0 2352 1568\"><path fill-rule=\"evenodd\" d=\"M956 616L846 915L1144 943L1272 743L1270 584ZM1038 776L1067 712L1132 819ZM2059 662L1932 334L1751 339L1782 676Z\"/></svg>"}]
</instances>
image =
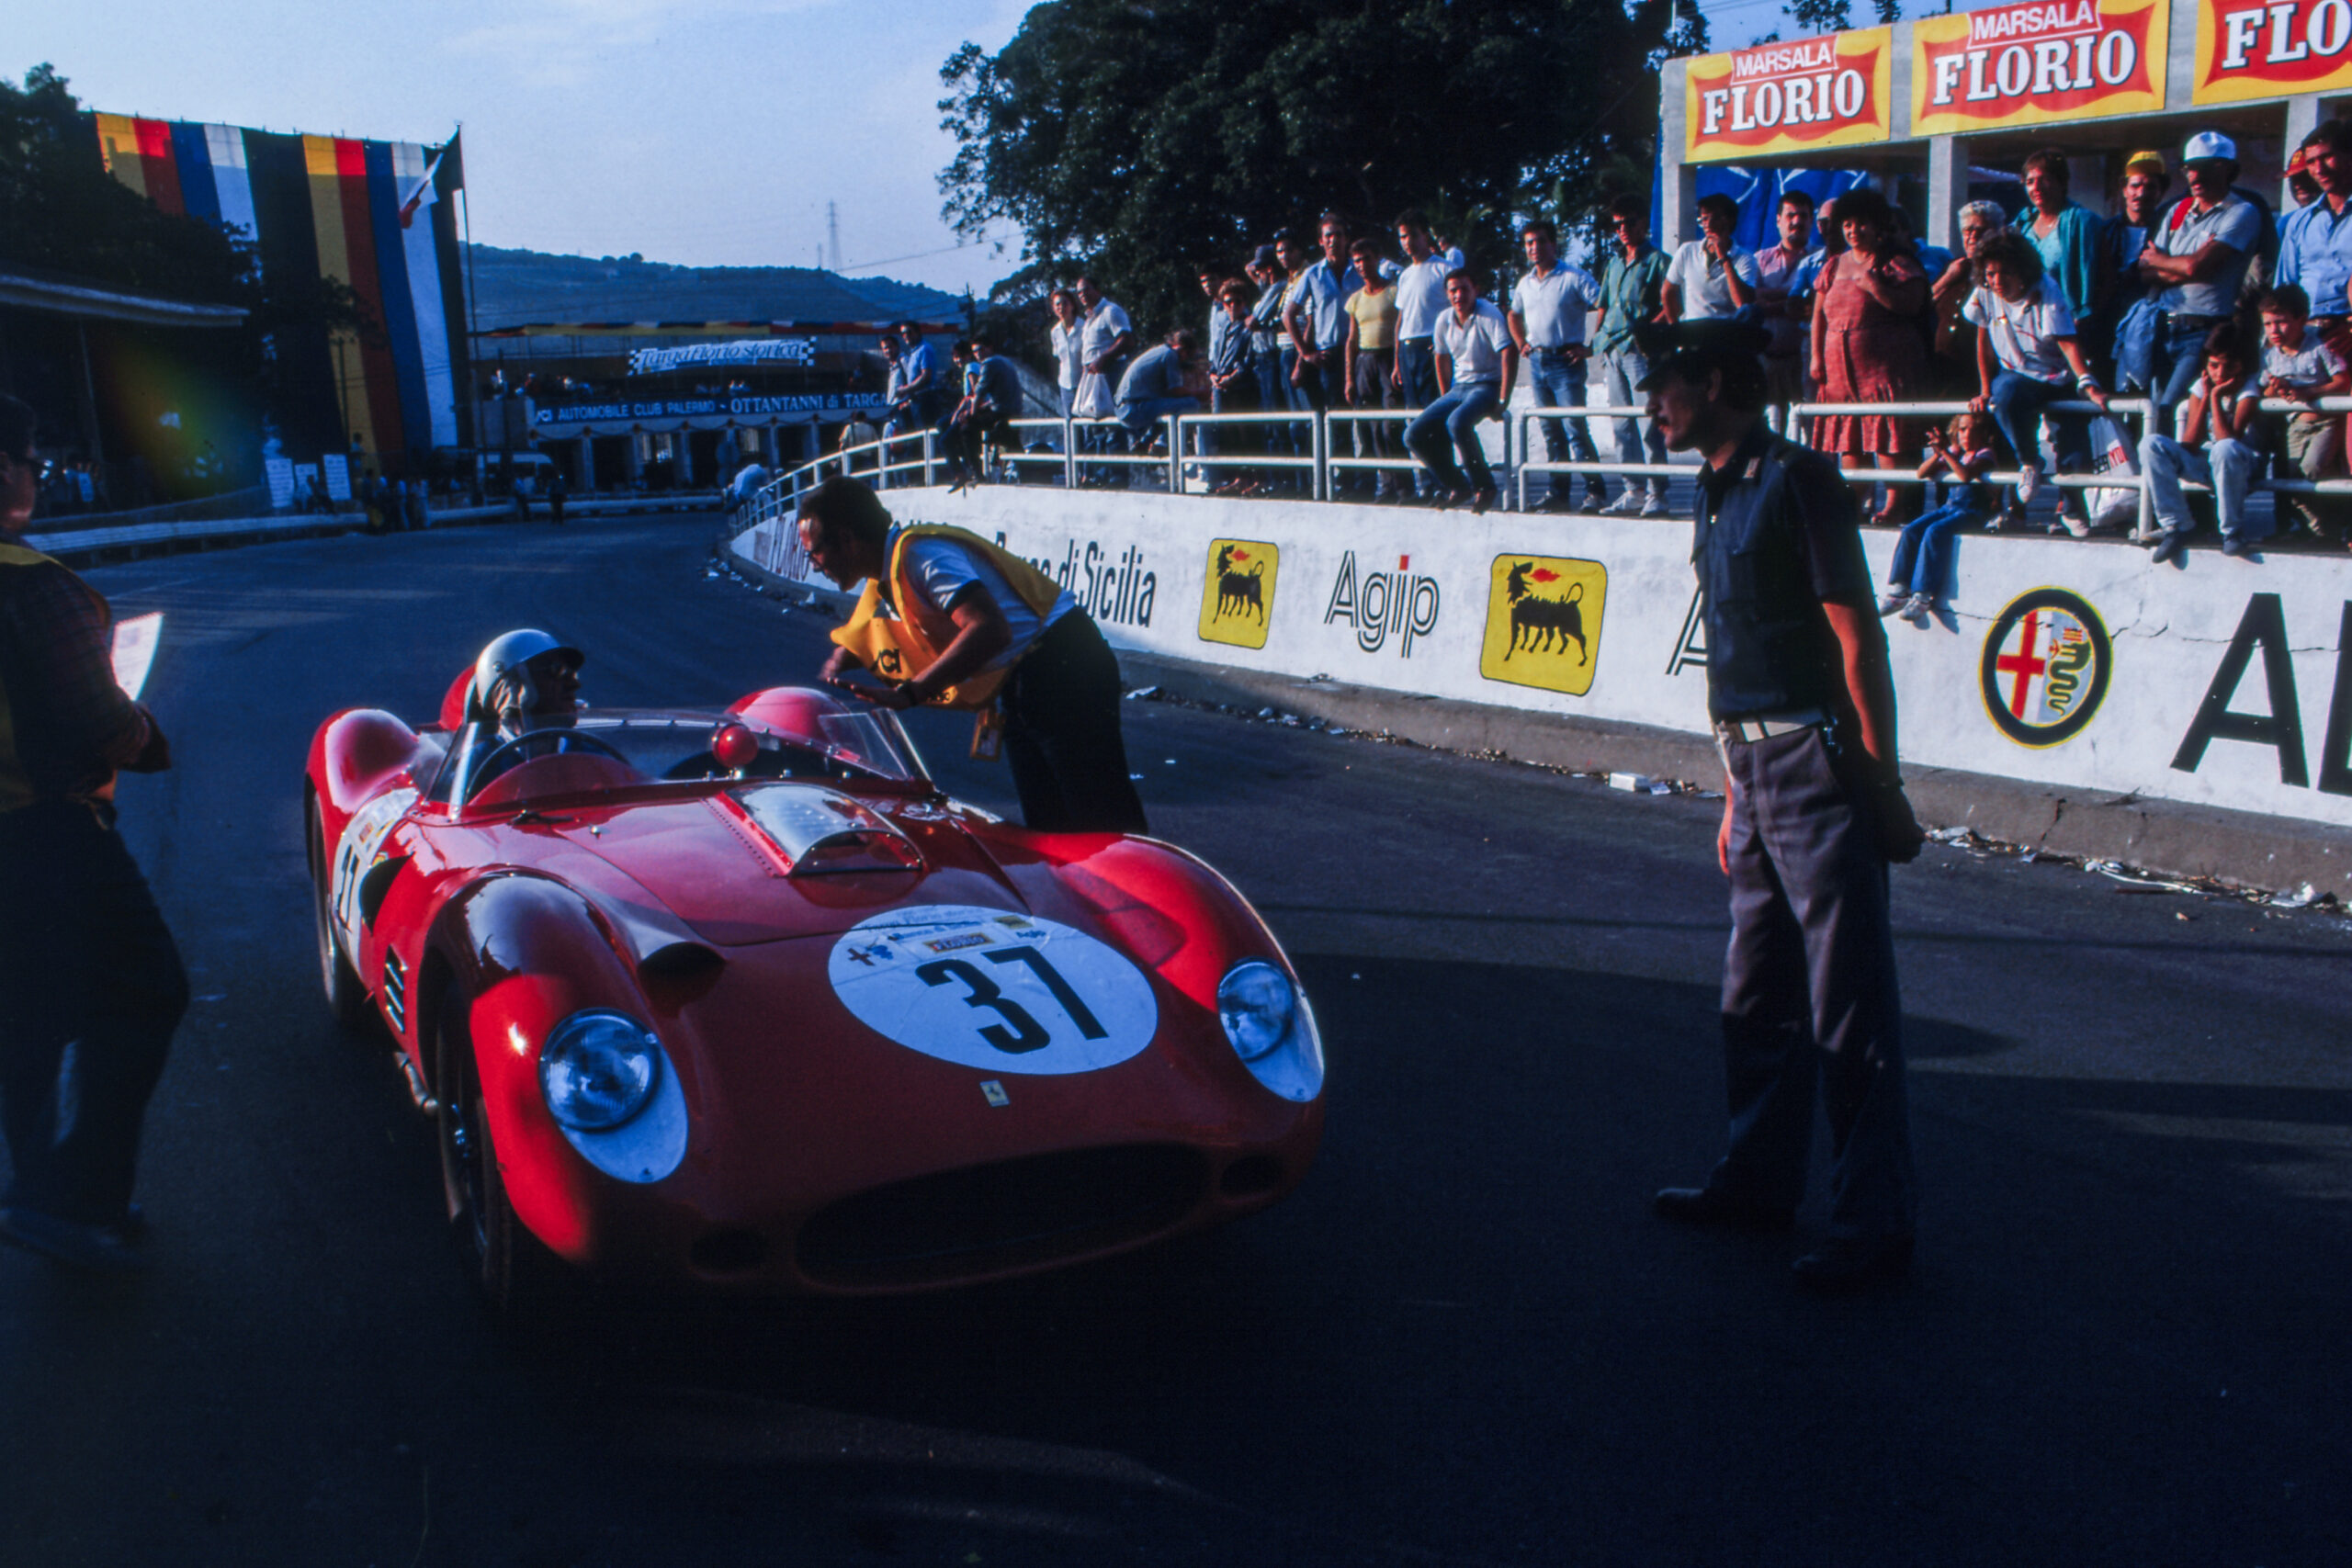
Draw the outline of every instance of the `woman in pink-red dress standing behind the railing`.
<instances>
[{"instance_id":1,"label":"woman in pink-red dress standing behind the railing","mask_svg":"<svg viewBox=\"0 0 2352 1568\"><path fill-rule=\"evenodd\" d=\"M1893 212L1870 186L1837 197L1846 249L1820 268L1813 308L1813 386L1823 402L1910 402L1926 395L1926 273L1896 244ZM1917 468L1915 421L1896 414L1818 414L1813 447L1853 465L1870 454L1879 468ZM1898 524L1912 494L1889 487L1886 510L1870 522Z\"/></svg>"}]
</instances>

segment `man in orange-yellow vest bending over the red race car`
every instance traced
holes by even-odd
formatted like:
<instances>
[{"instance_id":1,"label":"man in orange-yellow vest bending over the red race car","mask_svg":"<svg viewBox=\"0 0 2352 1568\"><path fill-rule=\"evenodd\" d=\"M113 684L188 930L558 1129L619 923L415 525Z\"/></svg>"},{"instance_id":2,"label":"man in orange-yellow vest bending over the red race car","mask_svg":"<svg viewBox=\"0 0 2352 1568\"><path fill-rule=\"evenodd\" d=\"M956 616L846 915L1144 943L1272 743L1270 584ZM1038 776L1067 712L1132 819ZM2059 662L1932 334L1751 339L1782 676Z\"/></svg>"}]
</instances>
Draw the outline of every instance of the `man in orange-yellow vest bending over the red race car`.
<instances>
[{"instance_id":1,"label":"man in orange-yellow vest bending over the red race car","mask_svg":"<svg viewBox=\"0 0 2352 1568\"><path fill-rule=\"evenodd\" d=\"M964 529L891 524L849 475L800 503L800 543L842 588L866 581L826 682L880 708L976 708L976 755L1000 712L1021 820L1037 832L1148 832L1120 736L1120 661L1065 588Z\"/></svg>"}]
</instances>

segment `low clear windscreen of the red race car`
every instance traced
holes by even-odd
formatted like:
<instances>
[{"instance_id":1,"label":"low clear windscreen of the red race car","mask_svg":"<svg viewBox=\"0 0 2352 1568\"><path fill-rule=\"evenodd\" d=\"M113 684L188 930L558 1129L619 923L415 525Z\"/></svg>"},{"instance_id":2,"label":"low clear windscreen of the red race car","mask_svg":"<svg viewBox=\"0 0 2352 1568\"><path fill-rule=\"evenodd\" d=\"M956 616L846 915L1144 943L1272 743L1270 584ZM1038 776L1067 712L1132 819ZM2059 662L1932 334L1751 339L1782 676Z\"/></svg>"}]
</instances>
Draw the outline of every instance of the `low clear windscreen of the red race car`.
<instances>
[{"instance_id":1,"label":"low clear windscreen of the red race car","mask_svg":"<svg viewBox=\"0 0 2352 1568\"><path fill-rule=\"evenodd\" d=\"M713 736L729 724L750 729L760 743L757 757L741 769L729 769L710 755ZM553 757L602 762L593 764L595 773L583 773L579 762L532 769ZM788 729L710 710L630 710L581 712L572 724L506 738L487 724L468 724L452 738L428 797L466 802L501 778L513 795L529 797L579 788L583 776L595 776L604 788L703 778L807 778L847 785L924 778L896 717L877 710L802 712ZM546 783L534 788L541 778Z\"/></svg>"}]
</instances>

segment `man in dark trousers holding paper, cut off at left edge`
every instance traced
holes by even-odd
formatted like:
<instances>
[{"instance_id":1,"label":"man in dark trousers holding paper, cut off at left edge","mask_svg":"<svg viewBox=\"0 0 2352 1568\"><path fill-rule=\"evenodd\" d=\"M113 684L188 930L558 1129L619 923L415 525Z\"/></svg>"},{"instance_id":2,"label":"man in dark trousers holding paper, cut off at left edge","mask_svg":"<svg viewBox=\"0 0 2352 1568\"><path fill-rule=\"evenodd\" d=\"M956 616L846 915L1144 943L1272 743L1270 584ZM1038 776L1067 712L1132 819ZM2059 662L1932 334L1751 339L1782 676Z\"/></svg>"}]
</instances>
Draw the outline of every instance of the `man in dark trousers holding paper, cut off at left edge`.
<instances>
[{"instance_id":1,"label":"man in dark trousers holding paper, cut off at left edge","mask_svg":"<svg viewBox=\"0 0 2352 1568\"><path fill-rule=\"evenodd\" d=\"M33 477L33 409L0 397L0 1239L132 1272L139 1126L188 973L113 797L115 769L172 748L115 684L106 599L16 538Z\"/></svg>"}]
</instances>

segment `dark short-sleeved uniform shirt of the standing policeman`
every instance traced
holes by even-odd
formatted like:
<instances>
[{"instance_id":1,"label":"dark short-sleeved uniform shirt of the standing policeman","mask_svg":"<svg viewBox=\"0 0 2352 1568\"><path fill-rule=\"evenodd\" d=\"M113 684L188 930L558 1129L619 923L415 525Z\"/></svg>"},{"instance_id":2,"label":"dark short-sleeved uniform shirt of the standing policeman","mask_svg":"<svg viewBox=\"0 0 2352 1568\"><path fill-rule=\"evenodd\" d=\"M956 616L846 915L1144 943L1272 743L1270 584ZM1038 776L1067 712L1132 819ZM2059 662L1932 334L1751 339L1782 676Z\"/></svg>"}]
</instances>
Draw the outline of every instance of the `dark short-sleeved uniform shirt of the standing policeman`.
<instances>
[{"instance_id":1,"label":"dark short-sleeved uniform shirt of the standing policeman","mask_svg":"<svg viewBox=\"0 0 2352 1568\"><path fill-rule=\"evenodd\" d=\"M1846 708L1823 599L1870 602L1860 517L1837 463L1757 421L1698 470L1691 564L1708 616L1708 712L1752 719Z\"/></svg>"}]
</instances>

